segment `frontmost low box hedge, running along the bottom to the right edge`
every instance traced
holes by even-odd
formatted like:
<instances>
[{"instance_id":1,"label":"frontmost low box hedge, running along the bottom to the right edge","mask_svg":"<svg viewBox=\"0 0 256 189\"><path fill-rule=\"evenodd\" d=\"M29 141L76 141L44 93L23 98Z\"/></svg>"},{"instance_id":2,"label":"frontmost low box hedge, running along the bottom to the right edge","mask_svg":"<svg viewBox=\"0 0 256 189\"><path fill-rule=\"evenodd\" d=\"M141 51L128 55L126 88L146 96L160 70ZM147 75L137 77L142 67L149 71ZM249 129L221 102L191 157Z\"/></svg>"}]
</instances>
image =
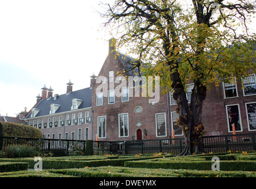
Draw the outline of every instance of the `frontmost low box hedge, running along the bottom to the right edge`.
<instances>
[{"instance_id":1,"label":"frontmost low box hedge, running along the bottom to the right edge","mask_svg":"<svg viewBox=\"0 0 256 189\"><path fill-rule=\"evenodd\" d=\"M198 171L112 166L48 171L75 177L256 177L255 172L249 171Z\"/></svg>"}]
</instances>

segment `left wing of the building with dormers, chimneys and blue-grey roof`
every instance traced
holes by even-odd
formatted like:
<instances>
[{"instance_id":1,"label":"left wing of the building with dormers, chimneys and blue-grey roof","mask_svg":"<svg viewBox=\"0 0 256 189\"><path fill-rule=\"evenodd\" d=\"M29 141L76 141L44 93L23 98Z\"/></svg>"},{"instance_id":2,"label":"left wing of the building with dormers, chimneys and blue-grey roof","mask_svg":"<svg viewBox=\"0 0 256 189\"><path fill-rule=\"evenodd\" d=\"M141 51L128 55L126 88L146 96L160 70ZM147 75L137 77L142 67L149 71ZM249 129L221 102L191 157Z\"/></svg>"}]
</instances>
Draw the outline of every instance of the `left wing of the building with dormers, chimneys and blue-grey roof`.
<instances>
[{"instance_id":1,"label":"left wing of the building with dormers, chimneys and blue-grey roof","mask_svg":"<svg viewBox=\"0 0 256 189\"><path fill-rule=\"evenodd\" d=\"M25 118L28 125L39 128L44 138L51 139L92 139L92 110L90 87L74 91L73 83L67 83L66 94L55 94L42 88L37 103Z\"/></svg>"}]
</instances>

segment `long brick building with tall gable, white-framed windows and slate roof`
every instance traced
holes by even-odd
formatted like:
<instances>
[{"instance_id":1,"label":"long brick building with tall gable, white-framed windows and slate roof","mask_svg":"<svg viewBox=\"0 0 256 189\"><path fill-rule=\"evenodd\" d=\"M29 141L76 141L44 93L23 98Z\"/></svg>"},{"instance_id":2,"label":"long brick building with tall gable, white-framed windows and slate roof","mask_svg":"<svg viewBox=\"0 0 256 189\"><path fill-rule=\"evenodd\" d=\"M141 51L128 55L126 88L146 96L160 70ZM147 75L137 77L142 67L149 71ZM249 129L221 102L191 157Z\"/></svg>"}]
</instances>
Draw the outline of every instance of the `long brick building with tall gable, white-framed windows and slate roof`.
<instances>
[{"instance_id":1,"label":"long brick building with tall gable, white-framed windows and slate roof","mask_svg":"<svg viewBox=\"0 0 256 189\"><path fill-rule=\"evenodd\" d=\"M136 60L115 51L109 43L109 54L98 77L91 76L90 87L73 92L69 82L67 94L54 97L51 88L43 88L25 120L50 138L128 141L171 138L173 134L183 137L176 125L172 94L144 97L142 74L138 68L131 69L134 64ZM232 123L236 133L256 132L255 80L252 73L244 87L239 82L213 84L203 102L205 135L232 134ZM192 89L193 83L187 84L188 100Z\"/></svg>"}]
</instances>

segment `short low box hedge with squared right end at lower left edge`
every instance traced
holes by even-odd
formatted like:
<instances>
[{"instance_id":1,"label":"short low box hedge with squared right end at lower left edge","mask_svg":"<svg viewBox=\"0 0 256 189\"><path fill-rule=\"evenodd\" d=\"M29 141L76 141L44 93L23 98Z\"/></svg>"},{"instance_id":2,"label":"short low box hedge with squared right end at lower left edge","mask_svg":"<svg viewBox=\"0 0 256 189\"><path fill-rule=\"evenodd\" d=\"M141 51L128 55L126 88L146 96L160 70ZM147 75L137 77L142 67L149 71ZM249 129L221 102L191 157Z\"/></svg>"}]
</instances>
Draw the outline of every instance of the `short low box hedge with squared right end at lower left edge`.
<instances>
[{"instance_id":1,"label":"short low box hedge with squared right end at lower left edge","mask_svg":"<svg viewBox=\"0 0 256 189\"><path fill-rule=\"evenodd\" d=\"M26 162L0 162L0 172L28 170Z\"/></svg>"}]
</instances>

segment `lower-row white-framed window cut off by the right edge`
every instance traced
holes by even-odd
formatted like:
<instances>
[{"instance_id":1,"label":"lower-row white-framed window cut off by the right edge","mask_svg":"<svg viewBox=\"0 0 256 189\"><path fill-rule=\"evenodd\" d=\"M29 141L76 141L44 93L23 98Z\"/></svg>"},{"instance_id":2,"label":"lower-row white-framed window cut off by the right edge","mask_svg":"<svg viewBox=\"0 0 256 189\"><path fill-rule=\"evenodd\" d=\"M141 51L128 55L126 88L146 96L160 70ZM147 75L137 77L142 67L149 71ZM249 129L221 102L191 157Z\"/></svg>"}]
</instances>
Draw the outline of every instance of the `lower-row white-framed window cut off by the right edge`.
<instances>
[{"instance_id":1,"label":"lower-row white-framed window cut off by the right edge","mask_svg":"<svg viewBox=\"0 0 256 189\"><path fill-rule=\"evenodd\" d=\"M256 131L256 102L245 103L249 131Z\"/></svg>"}]
</instances>

